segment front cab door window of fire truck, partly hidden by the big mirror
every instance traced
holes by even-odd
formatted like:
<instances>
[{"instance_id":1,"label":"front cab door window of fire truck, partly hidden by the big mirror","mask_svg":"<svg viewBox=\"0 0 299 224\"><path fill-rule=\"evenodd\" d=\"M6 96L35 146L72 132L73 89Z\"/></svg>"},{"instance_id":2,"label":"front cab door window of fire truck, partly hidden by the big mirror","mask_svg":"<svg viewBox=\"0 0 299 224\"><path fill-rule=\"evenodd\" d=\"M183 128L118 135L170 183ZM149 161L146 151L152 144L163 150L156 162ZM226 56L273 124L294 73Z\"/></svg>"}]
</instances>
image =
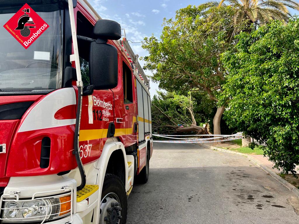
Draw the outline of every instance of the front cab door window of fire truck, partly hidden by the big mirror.
<instances>
[{"instance_id":1,"label":"front cab door window of fire truck, partly hidden by the big mirror","mask_svg":"<svg viewBox=\"0 0 299 224\"><path fill-rule=\"evenodd\" d=\"M94 26L82 15L82 13L77 13L77 35L93 38L93 27ZM84 86L90 85L89 48L89 42L78 40L79 60Z\"/></svg>"}]
</instances>

